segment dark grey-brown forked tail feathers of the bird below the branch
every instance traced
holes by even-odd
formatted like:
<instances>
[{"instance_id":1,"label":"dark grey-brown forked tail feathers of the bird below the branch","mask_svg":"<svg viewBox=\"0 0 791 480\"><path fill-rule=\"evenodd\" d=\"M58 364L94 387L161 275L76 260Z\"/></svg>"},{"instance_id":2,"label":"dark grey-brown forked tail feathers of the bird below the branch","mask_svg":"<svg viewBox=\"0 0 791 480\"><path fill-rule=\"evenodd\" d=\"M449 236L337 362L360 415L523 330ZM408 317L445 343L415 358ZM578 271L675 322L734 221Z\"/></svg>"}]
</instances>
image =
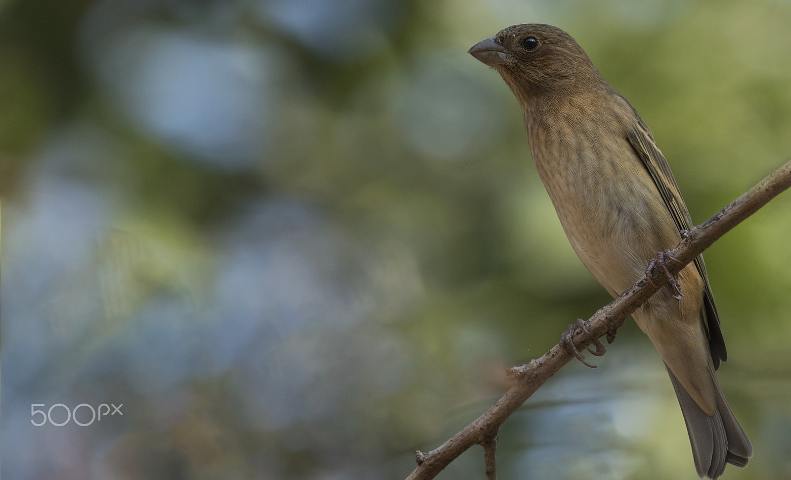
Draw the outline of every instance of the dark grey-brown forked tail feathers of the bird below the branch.
<instances>
[{"instance_id":1,"label":"dark grey-brown forked tail feathers of the bird below the branch","mask_svg":"<svg viewBox=\"0 0 791 480\"><path fill-rule=\"evenodd\" d=\"M667 367L665 364L665 368ZM717 386L717 412L710 417L692 399L687 390L684 390L670 368L667 370L676 390L676 397L679 398L684 423L687 424L694 466L700 478L719 477L725 470L726 463L736 467L747 466L747 461L752 457L752 444L733 416L713 371L712 376Z\"/></svg>"}]
</instances>

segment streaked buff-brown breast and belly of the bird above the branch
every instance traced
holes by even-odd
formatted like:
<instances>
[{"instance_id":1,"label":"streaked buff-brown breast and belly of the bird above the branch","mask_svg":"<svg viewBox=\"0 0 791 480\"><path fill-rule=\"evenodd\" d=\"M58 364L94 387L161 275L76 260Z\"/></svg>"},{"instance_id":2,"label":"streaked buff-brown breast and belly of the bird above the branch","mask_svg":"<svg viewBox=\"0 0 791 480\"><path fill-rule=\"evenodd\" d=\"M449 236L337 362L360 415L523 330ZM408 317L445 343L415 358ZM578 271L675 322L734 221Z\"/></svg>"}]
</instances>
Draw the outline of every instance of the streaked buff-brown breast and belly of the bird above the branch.
<instances>
[{"instance_id":1,"label":"streaked buff-brown breast and belly of the bird above the branch","mask_svg":"<svg viewBox=\"0 0 791 480\"><path fill-rule=\"evenodd\" d=\"M638 280L679 233L626 135L593 124L531 131L536 168L574 251L611 293Z\"/></svg>"}]
</instances>

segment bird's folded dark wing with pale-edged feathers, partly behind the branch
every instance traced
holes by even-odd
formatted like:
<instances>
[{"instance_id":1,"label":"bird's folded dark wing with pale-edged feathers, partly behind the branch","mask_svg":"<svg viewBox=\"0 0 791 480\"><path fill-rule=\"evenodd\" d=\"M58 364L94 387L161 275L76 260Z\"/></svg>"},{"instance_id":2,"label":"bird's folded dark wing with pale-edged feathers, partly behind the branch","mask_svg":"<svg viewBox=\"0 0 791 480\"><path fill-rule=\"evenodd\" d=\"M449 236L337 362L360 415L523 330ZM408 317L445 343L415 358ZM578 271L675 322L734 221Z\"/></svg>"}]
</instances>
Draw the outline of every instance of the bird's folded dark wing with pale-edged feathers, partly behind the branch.
<instances>
[{"instance_id":1,"label":"bird's folded dark wing with pale-edged feathers, partly behind the branch","mask_svg":"<svg viewBox=\"0 0 791 480\"><path fill-rule=\"evenodd\" d=\"M651 174L654 184L664 200L665 207L670 211L673 220L676 222L676 227L681 230L690 230L692 219L687 205L684 204L681 193L679 192L679 185L676 184L676 178L670 171L668 162L664 159L664 155L657 148L657 144L653 141L653 135L645 122L640 120L629 131L629 141L634 148L635 153L642 161L645 169ZM711 360L714 363L714 369L720 367L720 360L728 360L728 353L725 351L725 341L722 338L722 331L720 330L720 318L717 314L717 307L714 305L714 297L711 294L709 286L709 276L706 273L706 264L703 263L703 256L698 255L694 259L694 266L698 269L698 273L703 279L703 304L706 307L706 333L709 337L709 350L711 352Z\"/></svg>"}]
</instances>

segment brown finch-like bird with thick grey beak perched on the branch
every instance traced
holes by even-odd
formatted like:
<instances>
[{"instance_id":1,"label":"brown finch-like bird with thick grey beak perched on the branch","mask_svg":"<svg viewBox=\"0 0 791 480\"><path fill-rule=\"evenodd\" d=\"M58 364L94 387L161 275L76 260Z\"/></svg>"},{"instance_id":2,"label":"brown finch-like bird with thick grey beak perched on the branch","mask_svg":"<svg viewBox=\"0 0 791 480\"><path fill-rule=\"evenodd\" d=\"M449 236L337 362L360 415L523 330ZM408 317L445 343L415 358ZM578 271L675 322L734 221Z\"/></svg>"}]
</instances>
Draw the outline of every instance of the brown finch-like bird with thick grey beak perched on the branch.
<instances>
[{"instance_id":1,"label":"brown finch-like bird with thick grey beak perched on the branch","mask_svg":"<svg viewBox=\"0 0 791 480\"><path fill-rule=\"evenodd\" d=\"M651 131L557 27L513 25L469 52L498 70L516 95L533 161L571 246L619 295L691 227ZM717 478L726 463L746 466L752 445L714 373L727 354L702 256L674 282L633 317L664 360L698 475Z\"/></svg>"}]
</instances>

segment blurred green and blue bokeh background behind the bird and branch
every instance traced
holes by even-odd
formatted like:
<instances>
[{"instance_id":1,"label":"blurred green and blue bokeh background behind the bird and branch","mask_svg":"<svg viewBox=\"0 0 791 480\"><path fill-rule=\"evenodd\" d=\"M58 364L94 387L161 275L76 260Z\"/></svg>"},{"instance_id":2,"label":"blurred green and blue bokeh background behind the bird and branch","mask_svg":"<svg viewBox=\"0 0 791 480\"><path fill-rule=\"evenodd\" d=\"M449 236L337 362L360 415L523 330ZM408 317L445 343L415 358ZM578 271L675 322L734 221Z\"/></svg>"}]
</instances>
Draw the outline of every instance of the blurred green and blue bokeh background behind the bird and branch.
<instances>
[{"instance_id":1,"label":"blurred green and blue bokeh background behind the bird and branch","mask_svg":"<svg viewBox=\"0 0 791 480\"><path fill-rule=\"evenodd\" d=\"M467 55L531 21L641 112L696 223L791 156L783 0L0 2L3 478L397 479L483 413L609 300ZM791 478L789 247L786 192L706 253L755 445L725 478ZM596 360L505 424L501 478L697 478L634 323Z\"/></svg>"}]
</instances>

